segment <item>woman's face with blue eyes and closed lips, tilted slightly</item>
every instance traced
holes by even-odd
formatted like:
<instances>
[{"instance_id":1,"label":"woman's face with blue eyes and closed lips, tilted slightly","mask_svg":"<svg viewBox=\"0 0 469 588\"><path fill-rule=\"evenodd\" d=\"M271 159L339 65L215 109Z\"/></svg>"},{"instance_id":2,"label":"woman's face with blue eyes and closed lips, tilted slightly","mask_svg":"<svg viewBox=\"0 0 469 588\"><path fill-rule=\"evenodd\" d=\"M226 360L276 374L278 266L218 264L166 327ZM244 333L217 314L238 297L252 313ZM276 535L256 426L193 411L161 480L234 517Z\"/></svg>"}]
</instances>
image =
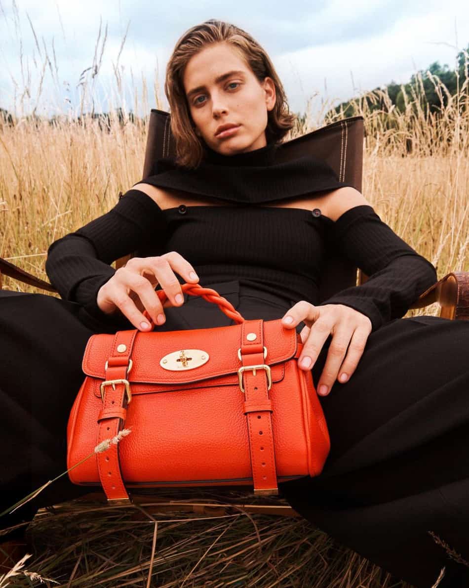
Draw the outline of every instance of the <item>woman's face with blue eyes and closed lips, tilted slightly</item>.
<instances>
[{"instance_id":1,"label":"woman's face with blue eyes and closed lips, tilted slightly","mask_svg":"<svg viewBox=\"0 0 469 588\"><path fill-rule=\"evenodd\" d=\"M260 83L235 49L225 43L202 49L187 62L183 84L195 131L210 148L234 155L267 145L267 111L275 105L275 86L269 77ZM229 124L236 129L216 134L219 126Z\"/></svg>"}]
</instances>

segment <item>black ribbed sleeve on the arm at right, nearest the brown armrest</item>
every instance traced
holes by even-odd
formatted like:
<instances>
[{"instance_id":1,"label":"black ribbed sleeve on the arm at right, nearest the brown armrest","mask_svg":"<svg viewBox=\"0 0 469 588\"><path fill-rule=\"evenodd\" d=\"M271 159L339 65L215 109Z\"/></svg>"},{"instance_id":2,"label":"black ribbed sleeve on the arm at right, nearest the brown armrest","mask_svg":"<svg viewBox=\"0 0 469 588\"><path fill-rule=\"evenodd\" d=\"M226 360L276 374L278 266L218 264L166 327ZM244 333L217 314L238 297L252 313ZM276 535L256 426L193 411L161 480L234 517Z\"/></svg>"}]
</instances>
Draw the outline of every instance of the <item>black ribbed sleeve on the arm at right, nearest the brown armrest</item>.
<instances>
[{"instance_id":1,"label":"black ribbed sleeve on the arm at right, nearest the brown armrest","mask_svg":"<svg viewBox=\"0 0 469 588\"><path fill-rule=\"evenodd\" d=\"M373 331L405 315L418 296L437 282L434 266L396 235L369 205L344 212L331 226L329 238L368 280L341 290L320 306L350 306L368 316Z\"/></svg>"}]
</instances>

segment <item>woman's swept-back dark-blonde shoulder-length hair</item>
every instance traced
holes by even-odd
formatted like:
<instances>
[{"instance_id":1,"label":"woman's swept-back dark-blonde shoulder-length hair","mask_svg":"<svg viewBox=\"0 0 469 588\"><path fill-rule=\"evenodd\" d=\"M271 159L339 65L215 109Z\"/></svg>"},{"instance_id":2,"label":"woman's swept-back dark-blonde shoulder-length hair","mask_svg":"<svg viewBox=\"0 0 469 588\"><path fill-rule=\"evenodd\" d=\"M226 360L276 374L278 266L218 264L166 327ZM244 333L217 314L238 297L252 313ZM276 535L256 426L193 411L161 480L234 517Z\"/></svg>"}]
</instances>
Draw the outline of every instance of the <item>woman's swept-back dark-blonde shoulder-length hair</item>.
<instances>
[{"instance_id":1,"label":"woman's swept-back dark-blonde shoulder-length hair","mask_svg":"<svg viewBox=\"0 0 469 588\"><path fill-rule=\"evenodd\" d=\"M183 85L185 67L189 59L203 47L219 42L233 46L244 57L259 82L263 82L266 76L274 82L276 102L272 111L267 112L267 143L282 143L297 118L289 112L282 82L262 46L235 25L215 19L205 21L188 29L179 38L166 66L165 94L169 102L171 131L175 139L175 162L179 166L197 168L205 153L203 144L195 133L187 103Z\"/></svg>"}]
</instances>

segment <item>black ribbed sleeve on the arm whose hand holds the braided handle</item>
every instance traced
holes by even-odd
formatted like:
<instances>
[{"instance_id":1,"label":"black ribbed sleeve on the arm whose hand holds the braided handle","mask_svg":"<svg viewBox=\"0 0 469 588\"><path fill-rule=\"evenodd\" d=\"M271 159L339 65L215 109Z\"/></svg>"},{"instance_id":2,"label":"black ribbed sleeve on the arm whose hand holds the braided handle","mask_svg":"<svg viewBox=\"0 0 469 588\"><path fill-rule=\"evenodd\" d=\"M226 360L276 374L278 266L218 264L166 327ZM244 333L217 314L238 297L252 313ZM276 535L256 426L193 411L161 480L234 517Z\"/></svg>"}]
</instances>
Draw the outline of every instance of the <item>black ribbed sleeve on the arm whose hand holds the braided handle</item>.
<instances>
[{"instance_id":1,"label":"black ribbed sleeve on the arm whose hand holds the braided handle","mask_svg":"<svg viewBox=\"0 0 469 588\"><path fill-rule=\"evenodd\" d=\"M116 270L110 263L151 243L162 249L166 224L162 210L146 193L130 189L109 212L55 240L45 270L61 297L76 302L98 325L133 329L120 311L108 315L97 303L98 290ZM155 253L158 255L158 253Z\"/></svg>"}]
</instances>

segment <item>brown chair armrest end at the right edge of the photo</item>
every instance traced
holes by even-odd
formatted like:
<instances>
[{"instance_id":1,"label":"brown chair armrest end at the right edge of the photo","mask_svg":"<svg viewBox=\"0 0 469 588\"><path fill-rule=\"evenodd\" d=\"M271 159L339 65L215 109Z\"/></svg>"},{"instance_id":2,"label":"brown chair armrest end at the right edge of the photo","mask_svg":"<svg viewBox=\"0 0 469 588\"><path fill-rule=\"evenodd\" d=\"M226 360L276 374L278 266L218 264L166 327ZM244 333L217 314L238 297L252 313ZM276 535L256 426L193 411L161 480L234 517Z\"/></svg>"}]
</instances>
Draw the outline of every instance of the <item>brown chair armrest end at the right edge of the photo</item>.
<instances>
[{"instance_id":1,"label":"brown chair armrest end at the right edge of the photo","mask_svg":"<svg viewBox=\"0 0 469 588\"><path fill-rule=\"evenodd\" d=\"M469 320L469 272L451 272L430 286L410 308L438 302L444 319Z\"/></svg>"}]
</instances>

